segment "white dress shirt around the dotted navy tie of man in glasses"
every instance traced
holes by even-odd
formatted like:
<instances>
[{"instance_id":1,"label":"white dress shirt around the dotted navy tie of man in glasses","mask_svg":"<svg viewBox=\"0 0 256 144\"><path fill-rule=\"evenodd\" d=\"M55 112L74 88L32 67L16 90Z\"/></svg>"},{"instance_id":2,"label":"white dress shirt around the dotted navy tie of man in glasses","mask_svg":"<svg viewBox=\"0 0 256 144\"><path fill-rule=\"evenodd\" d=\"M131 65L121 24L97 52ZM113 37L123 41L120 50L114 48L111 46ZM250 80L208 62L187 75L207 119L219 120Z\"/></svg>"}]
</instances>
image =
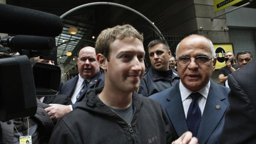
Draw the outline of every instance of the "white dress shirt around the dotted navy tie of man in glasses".
<instances>
[{"instance_id":1,"label":"white dress shirt around the dotted navy tie of man in glasses","mask_svg":"<svg viewBox=\"0 0 256 144\"><path fill-rule=\"evenodd\" d=\"M201 114L203 114L203 111L204 111L204 107L206 104L206 99L207 99L207 96L209 93L210 85L211 85L211 83L209 80L209 82L206 84L206 86L204 86L201 90L196 91L196 92L202 94L201 97L197 98L197 104L201 110ZM192 98L189 95L192 93L192 91L187 89L185 86L183 86L181 81L180 81L179 87L180 87L180 94L181 94L181 100L182 100L184 113L187 118L188 109L189 109L190 103L192 102Z\"/></svg>"}]
</instances>

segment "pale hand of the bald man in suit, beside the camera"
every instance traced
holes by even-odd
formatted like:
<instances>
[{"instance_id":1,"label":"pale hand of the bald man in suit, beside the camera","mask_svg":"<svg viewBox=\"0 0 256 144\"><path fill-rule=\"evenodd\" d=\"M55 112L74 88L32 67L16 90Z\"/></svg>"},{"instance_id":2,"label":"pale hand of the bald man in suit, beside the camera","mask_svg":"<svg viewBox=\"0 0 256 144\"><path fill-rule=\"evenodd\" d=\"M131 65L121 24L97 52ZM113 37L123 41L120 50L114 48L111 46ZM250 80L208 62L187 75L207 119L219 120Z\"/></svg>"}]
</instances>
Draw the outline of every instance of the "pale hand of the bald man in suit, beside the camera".
<instances>
[{"instance_id":1,"label":"pale hand of the bald man in suit, beside the camera","mask_svg":"<svg viewBox=\"0 0 256 144\"><path fill-rule=\"evenodd\" d=\"M49 104L50 107L47 107L45 110L48 113L49 117L53 122L58 121L60 117L69 113L70 106L60 105L60 104Z\"/></svg>"}]
</instances>

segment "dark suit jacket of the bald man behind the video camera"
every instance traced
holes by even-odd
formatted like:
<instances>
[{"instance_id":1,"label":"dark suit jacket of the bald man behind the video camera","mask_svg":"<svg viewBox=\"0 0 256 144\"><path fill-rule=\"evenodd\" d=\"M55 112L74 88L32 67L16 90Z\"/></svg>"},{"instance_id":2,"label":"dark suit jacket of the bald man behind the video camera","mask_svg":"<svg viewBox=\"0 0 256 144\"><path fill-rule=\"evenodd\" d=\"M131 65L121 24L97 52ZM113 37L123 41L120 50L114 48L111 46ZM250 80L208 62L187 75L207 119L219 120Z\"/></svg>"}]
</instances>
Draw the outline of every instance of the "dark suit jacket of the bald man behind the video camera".
<instances>
[{"instance_id":1,"label":"dark suit jacket of the bald man behind the video camera","mask_svg":"<svg viewBox=\"0 0 256 144\"><path fill-rule=\"evenodd\" d=\"M62 89L61 89L61 94L66 94L71 98L74 93L77 81L78 81L78 76L71 78L66 83L64 83L62 86ZM79 103L82 100L86 99L86 93L88 91L90 91L91 89L94 89L96 87L99 87L99 86L104 86L104 81L105 81L104 73L102 72L102 70L99 70L98 74L96 74L94 77L92 77L90 79L90 82L89 82L87 88L82 92L82 94L78 98L78 100L74 104L72 104L73 110L76 108L76 106L79 105Z\"/></svg>"}]
</instances>

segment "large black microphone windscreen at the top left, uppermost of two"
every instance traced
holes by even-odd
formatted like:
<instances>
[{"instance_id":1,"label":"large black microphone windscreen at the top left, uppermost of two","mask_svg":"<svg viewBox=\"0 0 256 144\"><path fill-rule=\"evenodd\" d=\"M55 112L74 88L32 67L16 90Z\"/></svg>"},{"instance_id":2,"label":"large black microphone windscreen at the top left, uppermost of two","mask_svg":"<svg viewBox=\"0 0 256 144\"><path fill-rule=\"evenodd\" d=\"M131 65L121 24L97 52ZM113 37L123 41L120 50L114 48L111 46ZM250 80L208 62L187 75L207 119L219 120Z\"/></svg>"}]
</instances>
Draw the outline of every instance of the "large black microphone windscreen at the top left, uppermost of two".
<instances>
[{"instance_id":1,"label":"large black microphone windscreen at the top left, uppermost of two","mask_svg":"<svg viewBox=\"0 0 256 144\"><path fill-rule=\"evenodd\" d=\"M62 19L54 14L0 4L0 33L57 37Z\"/></svg>"}]
</instances>

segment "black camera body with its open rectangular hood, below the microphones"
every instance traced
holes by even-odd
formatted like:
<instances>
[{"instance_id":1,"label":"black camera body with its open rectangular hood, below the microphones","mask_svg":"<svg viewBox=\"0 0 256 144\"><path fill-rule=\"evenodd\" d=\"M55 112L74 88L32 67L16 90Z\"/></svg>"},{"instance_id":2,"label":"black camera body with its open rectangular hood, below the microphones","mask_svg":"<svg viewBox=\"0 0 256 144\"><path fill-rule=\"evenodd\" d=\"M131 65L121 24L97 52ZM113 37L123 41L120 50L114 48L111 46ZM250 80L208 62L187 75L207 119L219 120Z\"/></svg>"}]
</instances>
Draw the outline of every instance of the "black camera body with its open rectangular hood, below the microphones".
<instances>
[{"instance_id":1,"label":"black camera body with its open rectangular hood, below the microphones","mask_svg":"<svg viewBox=\"0 0 256 144\"><path fill-rule=\"evenodd\" d=\"M57 57L56 52L50 57ZM15 51L15 50L11 50ZM36 97L56 96L60 87L60 67L33 62L27 55L0 57L0 121L36 113Z\"/></svg>"}]
</instances>

